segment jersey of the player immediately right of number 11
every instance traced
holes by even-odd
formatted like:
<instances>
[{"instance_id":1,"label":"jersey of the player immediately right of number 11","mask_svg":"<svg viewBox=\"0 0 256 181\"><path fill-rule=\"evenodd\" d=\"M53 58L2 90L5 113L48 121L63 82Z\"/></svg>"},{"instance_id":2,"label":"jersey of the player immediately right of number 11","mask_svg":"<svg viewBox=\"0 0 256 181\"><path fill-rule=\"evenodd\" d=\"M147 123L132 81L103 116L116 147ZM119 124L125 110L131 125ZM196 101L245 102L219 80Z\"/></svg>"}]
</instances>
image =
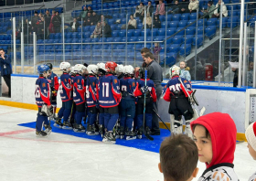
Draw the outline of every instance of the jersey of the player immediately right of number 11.
<instances>
[{"instance_id":1,"label":"jersey of the player immediately right of number 11","mask_svg":"<svg viewBox=\"0 0 256 181\"><path fill-rule=\"evenodd\" d=\"M132 78L123 78L120 80L121 92L124 99L134 100L134 91L136 90L136 80Z\"/></svg>"}]
</instances>

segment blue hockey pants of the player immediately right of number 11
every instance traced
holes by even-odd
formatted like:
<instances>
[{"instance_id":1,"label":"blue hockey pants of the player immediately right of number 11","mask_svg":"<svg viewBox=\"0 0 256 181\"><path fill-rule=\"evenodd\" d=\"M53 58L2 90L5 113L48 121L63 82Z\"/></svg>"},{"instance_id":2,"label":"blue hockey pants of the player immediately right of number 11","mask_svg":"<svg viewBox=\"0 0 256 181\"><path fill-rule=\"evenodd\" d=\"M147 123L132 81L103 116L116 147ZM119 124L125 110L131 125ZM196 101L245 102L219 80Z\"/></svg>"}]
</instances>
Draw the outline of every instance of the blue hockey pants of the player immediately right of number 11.
<instances>
[{"instance_id":1,"label":"blue hockey pants of the player immediately right of number 11","mask_svg":"<svg viewBox=\"0 0 256 181\"><path fill-rule=\"evenodd\" d=\"M133 118L135 116L135 101L122 99L120 125L132 130Z\"/></svg>"}]
</instances>

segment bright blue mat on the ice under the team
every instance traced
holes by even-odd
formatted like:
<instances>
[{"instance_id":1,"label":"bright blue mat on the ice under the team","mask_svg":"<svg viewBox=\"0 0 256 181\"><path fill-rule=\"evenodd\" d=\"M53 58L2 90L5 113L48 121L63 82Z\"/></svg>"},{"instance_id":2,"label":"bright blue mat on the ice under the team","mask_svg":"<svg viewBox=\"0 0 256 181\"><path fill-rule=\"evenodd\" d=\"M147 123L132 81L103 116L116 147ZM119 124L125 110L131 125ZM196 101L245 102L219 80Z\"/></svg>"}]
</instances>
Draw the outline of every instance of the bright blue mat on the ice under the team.
<instances>
[{"instance_id":1,"label":"bright blue mat on the ice under the team","mask_svg":"<svg viewBox=\"0 0 256 181\"><path fill-rule=\"evenodd\" d=\"M96 141L101 141L101 135L93 135L89 136L86 133L75 133L72 130L63 130L59 129L53 126L54 122L51 122L51 127L52 127L52 132L54 133L64 133L64 134L69 134L72 136L77 136L80 138L86 138L86 139L91 139L91 140L96 140ZM36 128L36 122L27 122L27 123L21 123L18 124L20 126L25 126L28 128ZM165 137L169 136L170 132L165 129L161 129L161 135L154 135L154 141L149 141L146 139L146 137L143 136L143 139L135 139L135 140L121 140L117 139L116 144L123 145L123 146L128 146L128 147L133 147L136 149L140 150L145 150L149 152L155 152L159 153L159 148Z\"/></svg>"}]
</instances>

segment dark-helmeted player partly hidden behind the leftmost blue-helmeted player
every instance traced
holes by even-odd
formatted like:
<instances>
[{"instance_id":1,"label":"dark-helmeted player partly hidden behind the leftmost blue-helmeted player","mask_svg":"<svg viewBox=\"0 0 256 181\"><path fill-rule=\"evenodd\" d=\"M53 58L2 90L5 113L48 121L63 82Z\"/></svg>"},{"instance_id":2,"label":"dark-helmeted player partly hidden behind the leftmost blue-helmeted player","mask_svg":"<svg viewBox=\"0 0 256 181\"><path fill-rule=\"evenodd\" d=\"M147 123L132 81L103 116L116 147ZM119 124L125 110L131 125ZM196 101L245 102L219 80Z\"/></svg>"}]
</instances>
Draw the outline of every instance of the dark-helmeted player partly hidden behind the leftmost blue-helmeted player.
<instances>
[{"instance_id":1,"label":"dark-helmeted player partly hidden behind the leftmost blue-helmeted player","mask_svg":"<svg viewBox=\"0 0 256 181\"><path fill-rule=\"evenodd\" d=\"M51 91L51 105L53 106L53 118L56 119L56 109L57 109L57 93L59 91L59 80L58 76L52 71L52 64L46 64L50 69L50 74L48 75L48 82Z\"/></svg>"}]
</instances>

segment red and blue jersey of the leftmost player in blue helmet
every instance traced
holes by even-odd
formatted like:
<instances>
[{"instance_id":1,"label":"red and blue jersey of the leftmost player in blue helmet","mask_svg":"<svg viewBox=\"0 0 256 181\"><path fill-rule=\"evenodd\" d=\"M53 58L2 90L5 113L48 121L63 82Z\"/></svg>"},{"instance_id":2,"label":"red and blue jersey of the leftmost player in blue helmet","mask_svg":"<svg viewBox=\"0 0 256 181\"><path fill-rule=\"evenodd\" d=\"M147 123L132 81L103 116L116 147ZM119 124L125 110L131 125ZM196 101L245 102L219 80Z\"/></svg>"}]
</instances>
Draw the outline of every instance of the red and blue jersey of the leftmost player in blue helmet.
<instances>
[{"instance_id":1,"label":"red and blue jersey of the leftmost player in blue helmet","mask_svg":"<svg viewBox=\"0 0 256 181\"><path fill-rule=\"evenodd\" d=\"M44 77L39 77L36 81L35 98L38 107L42 107L45 103L50 105L50 87Z\"/></svg>"}]
</instances>

